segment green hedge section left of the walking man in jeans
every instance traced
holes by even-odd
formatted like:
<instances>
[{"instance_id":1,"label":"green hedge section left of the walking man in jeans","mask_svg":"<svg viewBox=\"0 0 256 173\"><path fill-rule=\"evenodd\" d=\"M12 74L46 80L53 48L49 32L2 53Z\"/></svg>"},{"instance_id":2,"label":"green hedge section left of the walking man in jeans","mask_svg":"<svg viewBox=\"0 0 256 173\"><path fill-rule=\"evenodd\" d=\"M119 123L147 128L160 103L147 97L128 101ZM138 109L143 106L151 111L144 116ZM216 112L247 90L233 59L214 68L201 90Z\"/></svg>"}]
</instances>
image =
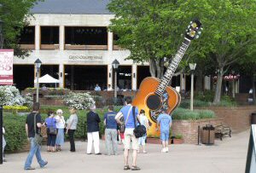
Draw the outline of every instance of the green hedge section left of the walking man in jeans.
<instances>
[{"instance_id":1,"label":"green hedge section left of the walking man in jeans","mask_svg":"<svg viewBox=\"0 0 256 173\"><path fill-rule=\"evenodd\" d=\"M4 138L7 142L6 151L20 150L26 144L25 130L26 116L13 114L3 116L3 126L5 129Z\"/></svg>"}]
</instances>

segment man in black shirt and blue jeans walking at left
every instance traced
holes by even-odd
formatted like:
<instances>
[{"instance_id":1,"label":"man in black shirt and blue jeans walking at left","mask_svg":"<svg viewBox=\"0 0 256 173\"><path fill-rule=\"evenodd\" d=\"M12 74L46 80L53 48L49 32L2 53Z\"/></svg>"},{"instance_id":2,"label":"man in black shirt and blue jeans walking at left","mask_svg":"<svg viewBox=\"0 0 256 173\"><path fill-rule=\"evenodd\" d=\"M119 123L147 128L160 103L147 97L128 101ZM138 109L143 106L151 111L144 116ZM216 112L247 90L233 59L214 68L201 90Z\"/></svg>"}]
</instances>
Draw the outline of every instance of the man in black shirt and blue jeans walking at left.
<instances>
[{"instance_id":1,"label":"man in black shirt and blue jeans walking at left","mask_svg":"<svg viewBox=\"0 0 256 173\"><path fill-rule=\"evenodd\" d=\"M42 127L42 120L41 115L39 114L40 104L38 102L33 104L33 111L27 115L26 117L26 136L27 139L31 142L30 151L28 153L28 156L26 158L26 163L24 166L24 170L35 170L35 168L31 167L32 159L34 157L34 154L36 154L38 164L41 168L44 168L46 164L48 164L47 161L44 161L41 158L41 146L38 145L35 140L35 133L39 134L40 129ZM34 118L36 118L36 124L34 124ZM36 131L34 130L36 126Z\"/></svg>"}]
</instances>

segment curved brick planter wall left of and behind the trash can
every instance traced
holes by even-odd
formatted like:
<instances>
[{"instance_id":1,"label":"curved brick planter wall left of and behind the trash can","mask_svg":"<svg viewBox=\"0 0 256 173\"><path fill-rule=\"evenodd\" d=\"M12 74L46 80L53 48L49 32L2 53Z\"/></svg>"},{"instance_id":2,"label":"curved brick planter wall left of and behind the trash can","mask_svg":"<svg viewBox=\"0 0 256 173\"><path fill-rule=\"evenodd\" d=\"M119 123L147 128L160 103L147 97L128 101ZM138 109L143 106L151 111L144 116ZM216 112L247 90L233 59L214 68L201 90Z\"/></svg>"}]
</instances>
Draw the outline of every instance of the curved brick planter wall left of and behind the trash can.
<instances>
[{"instance_id":1,"label":"curved brick planter wall left of and behind the trash can","mask_svg":"<svg viewBox=\"0 0 256 173\"><path fill-rule=\"evenodd\" d=\"M209 118L200 120L173 120L172 121L172 136L177 134L183 135L184 143L196 144L198 138L198 125L205 126L206 124L223 123L221 118Z\"/></svg>"}]
</instances>

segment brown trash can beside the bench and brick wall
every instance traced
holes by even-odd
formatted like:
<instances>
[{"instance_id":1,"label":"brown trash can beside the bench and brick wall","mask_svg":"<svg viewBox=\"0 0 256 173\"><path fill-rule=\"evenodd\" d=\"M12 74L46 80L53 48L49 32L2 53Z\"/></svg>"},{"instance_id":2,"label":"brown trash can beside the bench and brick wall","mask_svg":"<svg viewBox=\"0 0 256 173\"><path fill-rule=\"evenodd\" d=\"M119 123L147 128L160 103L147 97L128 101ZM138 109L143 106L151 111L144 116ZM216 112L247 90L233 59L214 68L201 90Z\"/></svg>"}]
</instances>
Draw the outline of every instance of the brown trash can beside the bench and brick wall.
<instances>
[{"instance_id":1,"label":"brown trash can beside the bench and brick wall","mask_svg":"<svg viewBox=\"0 0 256 173\"><path fill-rule=\"evenodd\" d=\"M215 128L212 124L207 124L206 126L202 127L201 130L201 143L203 144L214 144L215 139Z\"/></svg>"}]
</instances>

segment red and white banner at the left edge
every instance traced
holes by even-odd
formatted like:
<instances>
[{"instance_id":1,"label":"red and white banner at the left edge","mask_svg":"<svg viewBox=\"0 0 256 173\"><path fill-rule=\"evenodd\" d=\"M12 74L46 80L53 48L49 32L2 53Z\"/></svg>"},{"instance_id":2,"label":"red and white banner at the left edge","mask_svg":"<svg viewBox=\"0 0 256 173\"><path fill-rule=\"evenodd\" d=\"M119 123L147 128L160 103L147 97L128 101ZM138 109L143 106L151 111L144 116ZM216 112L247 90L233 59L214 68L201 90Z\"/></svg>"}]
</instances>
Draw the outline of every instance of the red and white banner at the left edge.
<instances>
[{"instance_id":1,"label":"red and white banner at the left edge","mask_svg":"<svg viewBox=\"0 0 256 173\"><path fill-rule=\"evenodd\" d=\"M14 50L0 49L0 84L12 85L14 83L13 62Z\"/></svg>"}]
</instances>

